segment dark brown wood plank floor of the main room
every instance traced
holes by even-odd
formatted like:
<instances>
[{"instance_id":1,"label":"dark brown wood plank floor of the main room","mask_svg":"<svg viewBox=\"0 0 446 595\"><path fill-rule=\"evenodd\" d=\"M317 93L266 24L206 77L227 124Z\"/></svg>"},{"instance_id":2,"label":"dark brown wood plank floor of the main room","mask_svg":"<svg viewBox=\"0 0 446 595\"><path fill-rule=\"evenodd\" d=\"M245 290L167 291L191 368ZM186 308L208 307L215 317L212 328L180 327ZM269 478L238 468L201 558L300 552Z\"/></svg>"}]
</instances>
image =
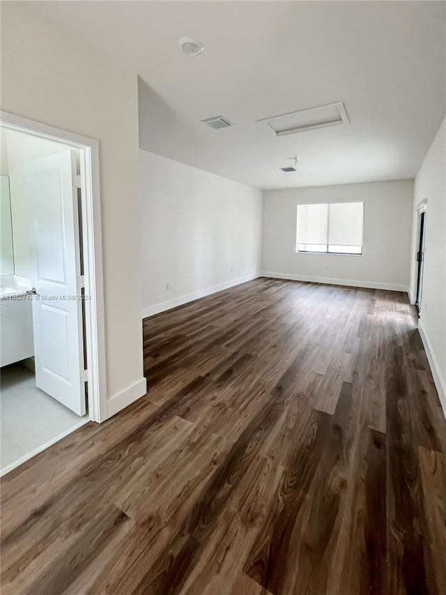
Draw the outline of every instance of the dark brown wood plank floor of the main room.
<instances>
[{"instance_id":1,"label":"dark brown wood plank floor of the main room","mask_svg":"<svg viewBox=\"0 0 446 595\"><path fill-rule=\"evenodd\" d=\"M148 394L1 482L2 595L446 594L406 295L259 279L144 320Z\"/></svg>"}]
</instances>

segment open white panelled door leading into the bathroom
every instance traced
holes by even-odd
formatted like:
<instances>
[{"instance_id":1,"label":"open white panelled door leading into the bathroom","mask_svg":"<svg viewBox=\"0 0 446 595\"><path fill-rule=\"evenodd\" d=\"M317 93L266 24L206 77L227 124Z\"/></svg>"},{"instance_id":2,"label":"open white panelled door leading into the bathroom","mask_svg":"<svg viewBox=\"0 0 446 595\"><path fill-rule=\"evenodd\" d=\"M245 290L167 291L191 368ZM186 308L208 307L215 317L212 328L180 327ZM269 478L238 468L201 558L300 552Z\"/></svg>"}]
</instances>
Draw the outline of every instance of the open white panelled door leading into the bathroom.
<instances>
[{"instance_id":1,"label":"open white panelled door leading into the bathroom","mask_svg":"<svg viewBox=\"0 0 446 595\"><path fill-rule=\"evenodd\" d=\"M36 384L78 415L86 412L76 151L26 164L31 206L31 283Z\"/></svg>"}]
</instances>

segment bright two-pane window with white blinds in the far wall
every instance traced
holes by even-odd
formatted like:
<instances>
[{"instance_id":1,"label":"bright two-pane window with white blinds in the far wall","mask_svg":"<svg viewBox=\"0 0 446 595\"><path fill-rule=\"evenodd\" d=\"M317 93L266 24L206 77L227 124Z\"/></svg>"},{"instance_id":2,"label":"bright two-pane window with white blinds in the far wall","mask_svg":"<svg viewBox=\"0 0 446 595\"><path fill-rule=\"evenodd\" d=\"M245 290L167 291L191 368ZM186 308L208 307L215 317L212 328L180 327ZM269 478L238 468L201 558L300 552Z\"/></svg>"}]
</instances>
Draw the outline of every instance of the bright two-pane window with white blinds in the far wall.
<instances>
[{"instance_id":1,"label":"bright two-pane window with white blinds in the far wall","mask_svg":"<svg viewBox=\"0 0 446 595\"><path fill-rule=\"evenodd\" d=\"M296 252L362 254L363 202L298 204Z\"/></svg>"}]
</instances>

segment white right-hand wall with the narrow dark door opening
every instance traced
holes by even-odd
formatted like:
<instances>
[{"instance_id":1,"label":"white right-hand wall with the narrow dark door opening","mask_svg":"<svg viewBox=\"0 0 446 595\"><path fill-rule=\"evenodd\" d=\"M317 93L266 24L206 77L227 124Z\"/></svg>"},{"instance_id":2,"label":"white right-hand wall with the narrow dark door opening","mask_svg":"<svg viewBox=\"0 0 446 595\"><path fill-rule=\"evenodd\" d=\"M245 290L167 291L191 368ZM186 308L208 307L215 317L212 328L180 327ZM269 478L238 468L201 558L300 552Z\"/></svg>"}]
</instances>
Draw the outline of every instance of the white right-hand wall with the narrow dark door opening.
<instances>
[{"instance_id":1,"label":"white right-hand wall with the narrow dark door opening","mask_svg":"<svg viewBox=\"0 0 446 595\"><path fill-rule=\"evenodd\" d=\"M427 199L426 244L420 334L429 356L433 377L446 413L446 119L433 140L415 177L411 292L417 287L417 214L415 207Z\"/></svg>"}]
</instances>

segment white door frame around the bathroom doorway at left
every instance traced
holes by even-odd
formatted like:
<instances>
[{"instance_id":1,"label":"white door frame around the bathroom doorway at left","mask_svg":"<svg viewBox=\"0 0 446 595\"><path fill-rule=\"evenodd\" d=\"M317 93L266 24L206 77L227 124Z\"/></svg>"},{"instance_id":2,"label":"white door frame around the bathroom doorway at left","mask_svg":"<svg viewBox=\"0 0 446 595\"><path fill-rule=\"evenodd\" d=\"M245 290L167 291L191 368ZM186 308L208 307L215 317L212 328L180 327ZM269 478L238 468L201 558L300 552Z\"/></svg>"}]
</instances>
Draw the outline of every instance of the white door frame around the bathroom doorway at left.
<instances>
[{"instance_id":1,"label":"white door frame around the bathroom doorway at left","mask_svg":"<svg viewBox=\"0 0 446 595\"><path fill-rule=\"evenodd\" d=\"M0 112L0 124L7 130L63 142L79 151L82 206L82 247L84 251L85 340L88 370L89 418L107 419L107 377L105 360L104 284L102 274L102 227L100 214L99 142L68 130L54 128Z\"/></svg>"}]
</instances>

